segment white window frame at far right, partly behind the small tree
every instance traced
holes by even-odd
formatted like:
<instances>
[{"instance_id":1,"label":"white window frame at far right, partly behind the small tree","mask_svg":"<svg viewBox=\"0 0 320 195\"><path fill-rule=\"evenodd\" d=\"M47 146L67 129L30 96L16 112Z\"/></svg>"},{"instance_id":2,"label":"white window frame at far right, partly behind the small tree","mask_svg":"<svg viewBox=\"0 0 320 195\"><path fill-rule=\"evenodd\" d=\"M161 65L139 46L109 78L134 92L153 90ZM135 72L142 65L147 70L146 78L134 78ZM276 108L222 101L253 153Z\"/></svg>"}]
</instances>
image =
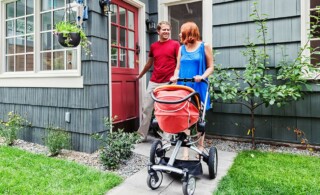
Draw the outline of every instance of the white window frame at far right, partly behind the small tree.
<instances>
[{"instance_id":1,"label":"white window frame at far right, partly behind the small tree","mask_svg":"<svg viewBox=\"0 0 320 195\"><path fill-rule=\"evenodd\" d=\"M310 0L301 0L301 47L308 42L308 34L310 33ZM310 43L308 43L310 45ZM308 49L303 51L304 56L310 56ZM305 78L308 80L320 80L320 68L316 72L310 72L305 69Z\"/></svg>"}]
</instances>

